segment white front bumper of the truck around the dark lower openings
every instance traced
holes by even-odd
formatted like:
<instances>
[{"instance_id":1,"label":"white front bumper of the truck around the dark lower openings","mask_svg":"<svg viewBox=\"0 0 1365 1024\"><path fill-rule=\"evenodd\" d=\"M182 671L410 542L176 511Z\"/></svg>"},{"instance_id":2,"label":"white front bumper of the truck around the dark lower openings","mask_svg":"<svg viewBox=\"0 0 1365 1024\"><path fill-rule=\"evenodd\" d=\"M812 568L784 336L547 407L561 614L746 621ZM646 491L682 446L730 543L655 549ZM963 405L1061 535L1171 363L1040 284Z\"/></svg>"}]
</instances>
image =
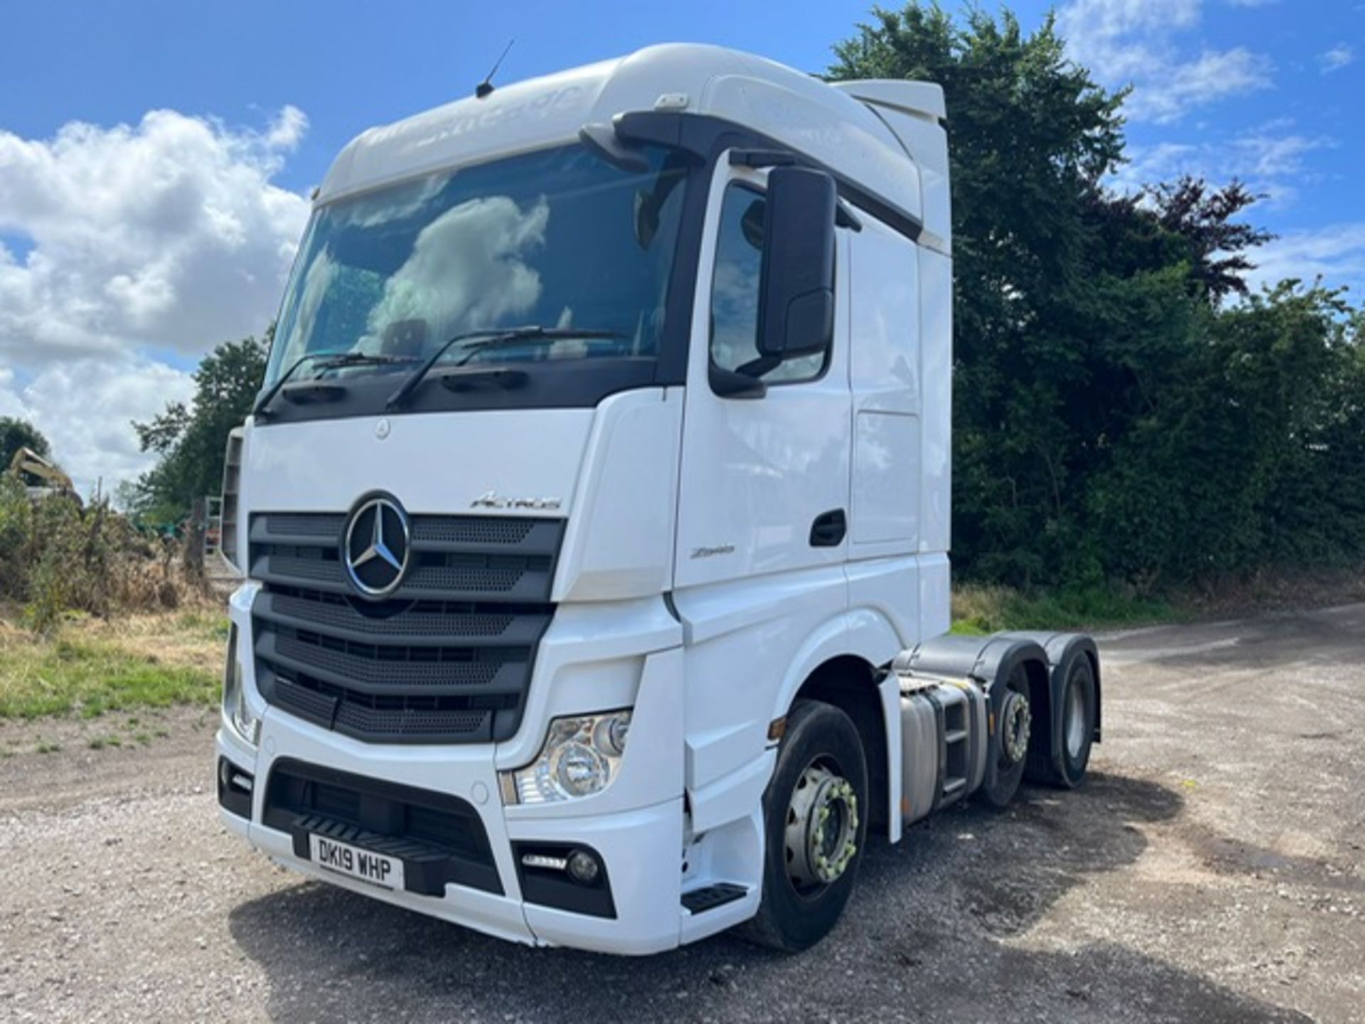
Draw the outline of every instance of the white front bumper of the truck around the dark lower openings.
<instances>
[{"instance_id":1,"label":"white front bumper of the truck around the dark lower openings","mask_svg":"<svg viewBox=\"0 0 1365 1024\"><path fill-rule=\"evenodd\" d=\"M235 608L233 617L244 618L243 610ZM253 777L250 819L220 807L224 825L277 863L310 878L500 938L627 954L677 946L687 916L681 907L681 654L673 649L637 655L633 664L627 658L584 665L584 655L591 657L592 651L584 651L577 632L568 632L575 624L573 616L562 618L565 643L542 646L539 665L547 677L532 688L527 717L543 722L557 714L579 713L590 700L610 702L612 694L618 700L616 706L633 705L631 741L620 774L602 793L565 804L505 807L498 769L526 763L538 740L528 743L517 737L498 745L371 744L278 709L258 706L261 736L257 748L246 745L227 726L218 730L218 756ZM248 621L243 625L248 628ZM246 642L243 646L250 650ZM242 654L244 657L244 651ZM251 662L246 664L250 676ZM621 677L620 685L612 684L613 673ZM633 699L620 700L628 691L633 691ZM543 726L539 735L543 736ZM501 894L456 883L445 885L441 896L393 892L319 868L307 859L307 844L296 842L296 826L265 823L272 773L276 767L288 770L285 762L362 777L378 785L457 797L472 808L486 833L498 882L493 889L500 887ZM244 803L239 793L238 810L244 810ZM278 814L270 819L274 826L281 825ZM513 844L568 844L595 851L606 868L616 916L528 902L521 892Z\"/></svg>"}]
</instances>

